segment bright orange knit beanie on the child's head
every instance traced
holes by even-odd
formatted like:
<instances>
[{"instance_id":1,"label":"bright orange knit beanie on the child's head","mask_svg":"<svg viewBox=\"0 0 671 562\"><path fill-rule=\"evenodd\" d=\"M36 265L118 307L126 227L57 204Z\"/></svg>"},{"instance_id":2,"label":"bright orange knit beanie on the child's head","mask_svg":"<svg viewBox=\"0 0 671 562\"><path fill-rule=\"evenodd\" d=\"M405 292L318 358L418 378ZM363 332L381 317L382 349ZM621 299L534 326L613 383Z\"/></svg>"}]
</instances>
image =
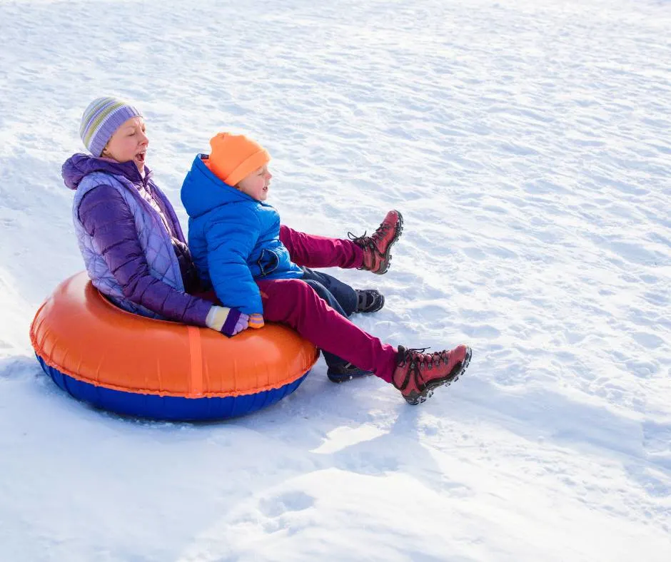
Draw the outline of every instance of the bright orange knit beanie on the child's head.
<instances>
[{"instance_id":1,"label":"bright orange knit beanie on the child's head","mask_svg":"<svg viewBox=\"0 0 671 562\"><path fill-rule=\"evenodd\" d=\"M209 168L228 185L237 185L271 160L263 146L244 135L218 133L211 138L210 145L212 152L207 160Z\"/></svg>"}]
</instances>

